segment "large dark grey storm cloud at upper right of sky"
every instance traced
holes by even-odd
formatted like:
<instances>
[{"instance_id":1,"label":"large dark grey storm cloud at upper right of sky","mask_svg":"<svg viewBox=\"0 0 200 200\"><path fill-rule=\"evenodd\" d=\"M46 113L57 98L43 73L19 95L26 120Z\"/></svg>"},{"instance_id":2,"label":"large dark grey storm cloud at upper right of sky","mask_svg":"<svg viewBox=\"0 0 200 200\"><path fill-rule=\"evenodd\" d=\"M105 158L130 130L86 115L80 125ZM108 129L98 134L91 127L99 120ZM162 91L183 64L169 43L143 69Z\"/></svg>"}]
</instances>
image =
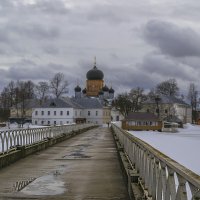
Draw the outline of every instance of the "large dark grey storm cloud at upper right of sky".
<instances>
[{"instance_id":1,"label":"large dark grey storm cloud at upper right of sky","mask_svg":"<svg viewBox=\"0 0 200 200\"><path fill-rule=\"evenodd\" d=\"M191 28L181 28L169 22L152 20L145 26L144 37L164 54L175 57L200 55L200 34Z\"/></svg>"}]
</instances>

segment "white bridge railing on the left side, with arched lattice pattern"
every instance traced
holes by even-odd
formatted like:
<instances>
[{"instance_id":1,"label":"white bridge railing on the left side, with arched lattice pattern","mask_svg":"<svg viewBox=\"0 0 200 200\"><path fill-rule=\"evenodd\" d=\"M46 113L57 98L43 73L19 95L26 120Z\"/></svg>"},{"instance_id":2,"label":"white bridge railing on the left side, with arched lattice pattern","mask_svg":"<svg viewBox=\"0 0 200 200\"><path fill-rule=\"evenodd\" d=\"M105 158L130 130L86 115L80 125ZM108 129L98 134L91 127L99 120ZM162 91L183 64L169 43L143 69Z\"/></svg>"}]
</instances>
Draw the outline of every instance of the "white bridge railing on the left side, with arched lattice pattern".
<instances>
[{"instance_id":1,"label":"white bridge railing on the left side, with arched lattice pattern","mask_svg":"<svg viewBox=\"0 0 200 200\"><path fill-rule=\"evenodd\" d=\"M7 153L18 145L30 145L47 138L53 138L61 134L69 134L72 131L78 131L91 126L93 126L93 124L73 124L0 131L0 153Z\"/></svg>"}]
</instances>

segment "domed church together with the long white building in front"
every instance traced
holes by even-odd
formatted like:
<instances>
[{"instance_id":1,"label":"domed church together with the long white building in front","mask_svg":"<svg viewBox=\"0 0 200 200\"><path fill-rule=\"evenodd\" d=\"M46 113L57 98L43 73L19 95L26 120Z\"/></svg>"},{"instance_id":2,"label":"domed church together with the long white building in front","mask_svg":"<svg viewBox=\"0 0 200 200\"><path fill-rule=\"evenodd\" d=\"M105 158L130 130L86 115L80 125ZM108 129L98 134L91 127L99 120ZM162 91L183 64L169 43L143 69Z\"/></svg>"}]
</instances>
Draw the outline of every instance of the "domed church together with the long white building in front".
<instances>
[{"instance_id":1,"label":"domed church together with the long white building in front","mask_svg":"<svg viewBox=\"0 0 200 200\"><path fill-rule=\"evenodd\" d=\"M37 125L62 125L72 123L107 124L111 121L111 102L114 89L104 83L104 74L96 66L86 73L86 88L77 85L74 97L49 99L35 107L32 123Z\"/></svg>"}]
</instances>

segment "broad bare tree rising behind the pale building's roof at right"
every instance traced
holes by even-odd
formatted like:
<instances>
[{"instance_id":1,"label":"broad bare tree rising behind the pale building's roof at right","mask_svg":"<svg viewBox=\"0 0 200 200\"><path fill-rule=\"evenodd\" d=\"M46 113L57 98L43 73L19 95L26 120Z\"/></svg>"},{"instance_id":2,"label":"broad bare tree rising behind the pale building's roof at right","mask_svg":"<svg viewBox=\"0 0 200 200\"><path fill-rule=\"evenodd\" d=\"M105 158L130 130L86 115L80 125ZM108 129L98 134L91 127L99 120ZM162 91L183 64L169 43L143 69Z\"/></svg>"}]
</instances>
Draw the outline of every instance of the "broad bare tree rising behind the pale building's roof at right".
<instances>
[{"instance_id":1,"label":"broad bare tree rising behind the pale building's roof at right","mask_svg":"<svg viewBox=\"0 0 200 200\"><path fill-rule=\"evenodd\" d=\"M176 79L169 79L167 81L163 81L156 86L156 93L163 94L166 96L178 96L179 95L179 87L176 82Z\"/></svg>"}]
</instances>

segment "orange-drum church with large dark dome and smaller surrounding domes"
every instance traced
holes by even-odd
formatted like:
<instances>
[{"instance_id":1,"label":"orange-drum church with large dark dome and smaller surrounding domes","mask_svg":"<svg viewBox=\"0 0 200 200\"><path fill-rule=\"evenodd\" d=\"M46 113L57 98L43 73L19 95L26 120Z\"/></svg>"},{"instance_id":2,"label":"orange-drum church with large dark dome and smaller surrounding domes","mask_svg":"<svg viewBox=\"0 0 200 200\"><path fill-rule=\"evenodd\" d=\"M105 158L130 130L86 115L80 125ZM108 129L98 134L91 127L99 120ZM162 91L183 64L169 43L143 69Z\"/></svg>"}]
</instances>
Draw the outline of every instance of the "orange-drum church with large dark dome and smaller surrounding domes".
<instances>
[{"instance_id":1,"label":"orange-drum church with large dark dome and smaller surrounding domes","mask_svg":"<svg viewBox=\"0 0 200 200\"><path fill-rule=\"evenodd\" d=\"M96 59L94 67L90 69L86 74L86 88L81 90L81 87L77 85L75 90L75 98L81 97L97 97L99 99L113 99L114 89L104 83L104 73L96 66Z\"/></svg>"}]
</instances>

